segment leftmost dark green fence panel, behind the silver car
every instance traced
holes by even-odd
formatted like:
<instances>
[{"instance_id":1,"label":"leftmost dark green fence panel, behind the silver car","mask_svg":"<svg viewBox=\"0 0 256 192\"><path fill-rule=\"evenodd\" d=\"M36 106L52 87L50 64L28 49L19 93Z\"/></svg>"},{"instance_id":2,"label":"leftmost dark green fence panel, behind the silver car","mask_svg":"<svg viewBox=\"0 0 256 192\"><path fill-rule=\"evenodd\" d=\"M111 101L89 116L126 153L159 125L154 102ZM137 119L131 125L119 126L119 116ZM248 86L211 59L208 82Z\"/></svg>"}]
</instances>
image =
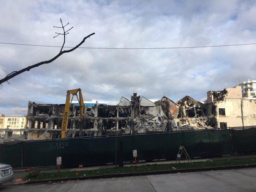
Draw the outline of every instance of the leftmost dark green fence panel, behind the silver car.
<instances>
[{"instance_id":1,"label":"leftmost dark green fence panel, behind the silver car","mask_svg":"<svg viewBox=\"0 0 256 192\"><path fill-rule=\"evenodd\" d=\"M22 167L21 142L0 144L0 163Z\"/></svg>"}]
</instances>

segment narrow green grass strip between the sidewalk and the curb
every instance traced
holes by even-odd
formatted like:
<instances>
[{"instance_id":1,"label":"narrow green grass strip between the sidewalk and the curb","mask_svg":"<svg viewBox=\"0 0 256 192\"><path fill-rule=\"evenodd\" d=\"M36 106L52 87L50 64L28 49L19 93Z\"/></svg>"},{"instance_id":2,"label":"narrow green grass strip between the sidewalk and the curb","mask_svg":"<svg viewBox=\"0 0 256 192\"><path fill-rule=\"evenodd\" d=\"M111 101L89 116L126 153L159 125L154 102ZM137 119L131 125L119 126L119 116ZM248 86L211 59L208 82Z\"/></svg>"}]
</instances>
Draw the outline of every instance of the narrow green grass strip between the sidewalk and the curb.
<instances>
[{"instance_id":1,"label":"narrow green grass strip between the sidewalk and the curb","mask_svg":"<svg viewBox=\"0 0 256 192\"><path fill-rule=\"evenodd\" d=\"M162 170L185 169L185 168L221 167L221 166L246 165L246 164L254 164L254 163L256 163L256 157L193 162L193 164L191 163L153 164L153 165L130 166L130 167L123 167L123 168L117 167L117 168L104 168L104 169L97 169L97 170L40 173L38 177L32 178L30 180L61 179L61 178L95 176L95 175L116 174L116 173L135 173L135 172L148 172L148 171L160 171L160 170L162 171ZM23 180L29 180L29 179L27 177L24 177Z\"/></svg>"}]
</instances>

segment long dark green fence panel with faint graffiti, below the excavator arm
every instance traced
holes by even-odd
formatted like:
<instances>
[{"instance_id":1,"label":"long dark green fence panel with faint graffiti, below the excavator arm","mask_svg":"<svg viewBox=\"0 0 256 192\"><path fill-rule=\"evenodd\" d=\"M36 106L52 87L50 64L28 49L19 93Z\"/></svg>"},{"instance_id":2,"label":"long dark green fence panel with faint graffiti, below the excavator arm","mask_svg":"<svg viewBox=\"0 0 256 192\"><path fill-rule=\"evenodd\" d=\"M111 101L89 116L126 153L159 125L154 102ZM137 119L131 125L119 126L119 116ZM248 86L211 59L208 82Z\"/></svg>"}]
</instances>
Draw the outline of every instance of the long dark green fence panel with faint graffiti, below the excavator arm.
<instances>
[{"instance_id":1,"label":"long dark green fence panel with faint graffiti, below the excavator arm","mask_svg":"<svg viewBox=\"0 0 256 192\"><path fill-rule=\"evenodd\" d=\"M115 161L115 138L85 138L55 141L24 142L24 167L100 164Z\"/></svg>"}]
</instances>

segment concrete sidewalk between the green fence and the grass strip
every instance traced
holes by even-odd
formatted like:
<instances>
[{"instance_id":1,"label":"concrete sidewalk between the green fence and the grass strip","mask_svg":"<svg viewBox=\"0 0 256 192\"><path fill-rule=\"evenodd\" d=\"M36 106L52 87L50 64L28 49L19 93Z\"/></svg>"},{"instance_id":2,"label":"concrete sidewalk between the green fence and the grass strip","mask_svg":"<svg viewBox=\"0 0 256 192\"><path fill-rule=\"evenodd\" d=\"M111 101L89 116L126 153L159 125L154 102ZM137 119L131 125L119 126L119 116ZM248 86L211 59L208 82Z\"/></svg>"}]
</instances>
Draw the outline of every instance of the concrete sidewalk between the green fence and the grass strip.
<instances>
[{"instance_id":1,"label":"concrete sidewalk between the green fence and the grass strip","mask_svg":"<svg viewBox=\"0 0 256 192\"><path fill-rule=\"evenodd\" d=\"M224 159L238 159L238 158L250 158L250 157L256 157L256 154L253 155L233 155L233 156L222 156L222 157L214 157L214 158L201 158L201 159L192 159L192 162L205 162L205 161L216 161L216 160L224 160ZM181 163L185 163L187 160L181 160ZM143 165L154 165L154 164L171 164L175 163L175 160L171 161L152 161L152 162L139 162L136 165L134 164L124 164L124 167L130 167L130 166L143 166ZM118 165L117 165L118 166ZM97 170L97 169L103 169L103 168L115 168L115 164L111 165L100 165L100 166L90 166L90 167L84 167L84 168L61 168L61 172L66 171L82 171L82 170ZM41 173L52 173L52 172L58 172L57 167L46 167L46 168L40 168ZM21 179L24 176L26 176L28 173L25 172L25 169L13 169L14 173L14 180L11 183L8 184L14 184L16 179Z\"/></svg>"}]
</instances>

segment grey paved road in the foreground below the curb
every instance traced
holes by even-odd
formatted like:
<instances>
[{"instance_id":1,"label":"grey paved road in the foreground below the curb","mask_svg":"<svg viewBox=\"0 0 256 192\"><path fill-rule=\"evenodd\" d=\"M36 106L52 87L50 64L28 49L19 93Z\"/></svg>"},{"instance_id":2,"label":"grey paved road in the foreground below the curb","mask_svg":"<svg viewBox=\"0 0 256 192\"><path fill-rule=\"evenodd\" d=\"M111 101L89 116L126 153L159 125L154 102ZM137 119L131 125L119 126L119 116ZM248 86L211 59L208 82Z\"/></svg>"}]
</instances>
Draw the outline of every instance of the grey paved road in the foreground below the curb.
<instances>
[{"instance_id":1,"label":"grey paved road in the foreground below the curb","mask_svg":"<svg viewBox=\"0 0 256 192\"><path fill-rule=\"evenodd\" d=\"M256 168L2 185L0 192L256 192Z\"/></svg>"}]
</instances>

